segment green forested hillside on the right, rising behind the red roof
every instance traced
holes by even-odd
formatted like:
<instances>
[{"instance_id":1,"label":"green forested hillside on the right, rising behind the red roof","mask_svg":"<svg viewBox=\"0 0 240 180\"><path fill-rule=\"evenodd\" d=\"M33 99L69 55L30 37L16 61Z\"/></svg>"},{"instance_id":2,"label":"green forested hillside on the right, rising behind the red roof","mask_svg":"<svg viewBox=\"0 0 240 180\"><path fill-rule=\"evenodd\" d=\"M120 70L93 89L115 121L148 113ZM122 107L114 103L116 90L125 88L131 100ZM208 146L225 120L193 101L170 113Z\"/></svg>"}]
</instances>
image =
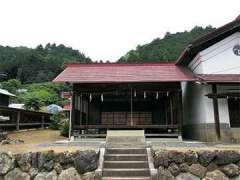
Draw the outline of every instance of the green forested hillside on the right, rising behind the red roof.
<instances>
[{"instance_id":1,"label":"green forested hillside on the right, rising behind the red roof","mask_svg":"<svg viewBox=\"0 0 240 180\"><path fill-rule=\"evenodd\" d=\"M202 28L194 27L191 31L178 32L171 34L166 33L164 38L156 38L149 44L139 45L135 50L129 51L122 56L118 62L168 62L175 61L179 53L192 40L214 30L211 26Z\"/></svg>"}]
</instances>

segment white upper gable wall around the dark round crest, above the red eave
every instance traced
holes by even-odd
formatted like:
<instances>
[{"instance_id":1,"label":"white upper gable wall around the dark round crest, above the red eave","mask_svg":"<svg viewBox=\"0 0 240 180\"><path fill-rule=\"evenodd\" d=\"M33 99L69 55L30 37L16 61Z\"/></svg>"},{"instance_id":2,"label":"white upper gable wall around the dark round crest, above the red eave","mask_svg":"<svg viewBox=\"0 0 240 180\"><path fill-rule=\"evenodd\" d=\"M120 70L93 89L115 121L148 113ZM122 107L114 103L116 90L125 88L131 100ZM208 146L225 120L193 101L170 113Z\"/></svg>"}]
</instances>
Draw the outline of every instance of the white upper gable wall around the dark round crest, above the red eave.
<instances>
[{"instance_id":1,"label":"white upper gable wall around the dark round crest, above the red eave","mask_svg":"<svg viewBox=\"0 0 240 180\"><path fill-rule=\"evenodd\" d=\"M189 68L196 74L240 74L240 56L233 53L236 44L240 44L240 32L199 52Z\"/></svg>"}]
</instances>

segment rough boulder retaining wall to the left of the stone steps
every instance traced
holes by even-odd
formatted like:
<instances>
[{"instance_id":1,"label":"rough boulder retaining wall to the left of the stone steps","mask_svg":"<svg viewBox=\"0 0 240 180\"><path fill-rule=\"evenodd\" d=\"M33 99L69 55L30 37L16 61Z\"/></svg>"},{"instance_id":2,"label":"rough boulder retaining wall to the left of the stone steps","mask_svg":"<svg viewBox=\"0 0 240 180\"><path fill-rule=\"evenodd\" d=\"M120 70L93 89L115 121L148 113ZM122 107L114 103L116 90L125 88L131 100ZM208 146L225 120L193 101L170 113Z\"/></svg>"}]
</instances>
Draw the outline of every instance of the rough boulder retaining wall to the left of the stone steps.
<instances>
[{"instance_id":1,"label":"rough boulder retaining wall to the left of the stone steps","mask_svg":"<svg viewBox=\"0 0 240 180\"><path fill-rule=\"evenodd\" d=\"M95 151L0 153L0 180L94 180Z\"/></svg>"}]
</instances>

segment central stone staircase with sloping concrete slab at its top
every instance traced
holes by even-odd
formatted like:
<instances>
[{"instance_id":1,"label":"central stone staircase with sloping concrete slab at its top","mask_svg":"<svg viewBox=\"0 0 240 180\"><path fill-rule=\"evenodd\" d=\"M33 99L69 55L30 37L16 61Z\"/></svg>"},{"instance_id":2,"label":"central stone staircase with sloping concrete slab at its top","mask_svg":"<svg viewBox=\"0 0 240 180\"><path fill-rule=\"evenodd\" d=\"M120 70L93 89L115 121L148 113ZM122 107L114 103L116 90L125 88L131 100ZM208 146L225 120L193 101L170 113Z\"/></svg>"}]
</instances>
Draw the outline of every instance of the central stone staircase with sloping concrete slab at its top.
<instances>
[{"instance_id":1,"label":"central stone staircase with sloping concrete slab at its top","mask_svg":"<svg viewBox=\"0 0 240 180\"><path fill-rule=\"evenodd\" d=\"M109 132L102 155L103 180L153 180L150 148L142 131Z\"/></svg>"}]
</instances>

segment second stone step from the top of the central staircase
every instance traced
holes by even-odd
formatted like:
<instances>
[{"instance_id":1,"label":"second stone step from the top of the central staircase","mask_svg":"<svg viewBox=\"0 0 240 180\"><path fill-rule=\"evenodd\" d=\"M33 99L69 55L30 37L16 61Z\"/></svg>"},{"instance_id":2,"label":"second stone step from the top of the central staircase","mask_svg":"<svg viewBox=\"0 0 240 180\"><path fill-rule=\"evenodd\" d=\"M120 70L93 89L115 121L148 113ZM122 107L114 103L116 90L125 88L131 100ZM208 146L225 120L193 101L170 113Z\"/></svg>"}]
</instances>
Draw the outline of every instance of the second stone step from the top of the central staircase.
<instances>
[{"instance_id":1,"label":"second stone step from the top of the central staircase","mask_svg":"<svg viewBox=\"0 0 240 180\"><path fill-rule=\"evenodd\" d=\"M147 161L146 154L105 154L104 161Z\"/></svg>"}]
</instances>

